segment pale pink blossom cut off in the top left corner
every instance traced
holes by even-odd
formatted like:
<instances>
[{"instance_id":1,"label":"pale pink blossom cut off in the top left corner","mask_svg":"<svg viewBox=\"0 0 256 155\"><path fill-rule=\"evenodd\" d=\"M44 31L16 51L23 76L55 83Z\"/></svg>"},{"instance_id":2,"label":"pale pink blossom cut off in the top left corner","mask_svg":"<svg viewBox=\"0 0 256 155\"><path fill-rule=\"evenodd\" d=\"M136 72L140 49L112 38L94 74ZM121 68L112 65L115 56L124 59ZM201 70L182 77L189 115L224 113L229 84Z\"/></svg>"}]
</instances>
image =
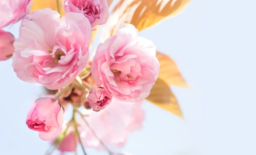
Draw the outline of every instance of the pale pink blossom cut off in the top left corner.
<instances>
[{"instance_id":1,"label":"pale pink blossom cut off in the top left corner","mask_svg":"<svg viewBox=\"0 0 256 155\"><path fill-rule=\"evenodd\" d=\"M0 28L21 20L32 6L32 0L0 0Z\"/></svg>"}]
</instances>

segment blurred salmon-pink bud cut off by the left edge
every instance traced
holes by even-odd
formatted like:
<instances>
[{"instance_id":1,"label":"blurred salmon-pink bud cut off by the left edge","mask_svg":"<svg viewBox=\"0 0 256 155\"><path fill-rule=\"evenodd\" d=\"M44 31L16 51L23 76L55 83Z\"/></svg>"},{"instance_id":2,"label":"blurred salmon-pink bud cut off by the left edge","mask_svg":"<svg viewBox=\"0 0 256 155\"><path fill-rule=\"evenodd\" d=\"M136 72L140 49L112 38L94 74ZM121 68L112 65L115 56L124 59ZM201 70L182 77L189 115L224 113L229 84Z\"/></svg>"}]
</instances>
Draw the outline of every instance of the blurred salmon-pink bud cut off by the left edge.
<instances>
[{"instance_id":1,"label":"blurred salmon-pink bud cut off by the left edge","mask_svg":"<svg viewBox=\"0 0 256 155\"><path fill-rule=\"evenodd\" d=\"M0 61L9 59L13 52L15 38L9 32L0 29Z\"/></svg>"}]
</instances>

